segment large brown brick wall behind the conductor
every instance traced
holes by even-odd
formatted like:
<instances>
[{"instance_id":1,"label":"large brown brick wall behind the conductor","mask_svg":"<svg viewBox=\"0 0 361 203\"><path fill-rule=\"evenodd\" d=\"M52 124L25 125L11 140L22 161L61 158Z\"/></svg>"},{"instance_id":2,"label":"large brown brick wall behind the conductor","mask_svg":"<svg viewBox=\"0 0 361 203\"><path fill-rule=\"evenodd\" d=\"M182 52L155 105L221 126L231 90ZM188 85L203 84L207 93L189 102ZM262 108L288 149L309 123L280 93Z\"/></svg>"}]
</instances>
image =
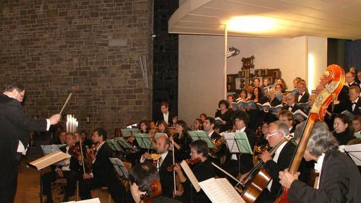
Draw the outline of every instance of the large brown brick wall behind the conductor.
<instances>
[{"instance_id":1,"label":"large brown brick wall behind the conductor","mask_svg":"<svg viewBox=\"0 0 361 203\"><path fill-rule=\"evenodd\" d=\"M106 127L112 136L114 127L150 119L151 7L151 0L1 1L0 80L24 82L28 116L58 112L72 92L64 114L75 114L80 129Z\"/></svg>"}]
</instances>

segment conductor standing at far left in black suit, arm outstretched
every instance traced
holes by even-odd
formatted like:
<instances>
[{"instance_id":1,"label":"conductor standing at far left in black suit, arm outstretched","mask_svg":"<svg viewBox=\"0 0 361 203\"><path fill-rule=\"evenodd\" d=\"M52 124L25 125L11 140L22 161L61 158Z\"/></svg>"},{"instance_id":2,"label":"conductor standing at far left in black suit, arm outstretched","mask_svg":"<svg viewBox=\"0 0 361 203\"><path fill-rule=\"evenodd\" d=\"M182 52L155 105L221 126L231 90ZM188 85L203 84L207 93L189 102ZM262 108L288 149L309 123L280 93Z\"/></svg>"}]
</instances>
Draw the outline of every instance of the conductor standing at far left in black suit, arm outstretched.
<instances>
[{"instance_id":1,"label":"conductor standing at far left in black suit, arm outstretched","mask_svg":"<svg viewBox=\"0 0 361 203\"><path fill-rule=\"evenodd\" d=\"M28 132L46 132L50 125L60 121L60 114L48 119L29 119L23 111L24 85L12 80L6 82L0 94L0 202L14 202L17 190L18 161L26 154Z\"/></svg>"}]
</instances>

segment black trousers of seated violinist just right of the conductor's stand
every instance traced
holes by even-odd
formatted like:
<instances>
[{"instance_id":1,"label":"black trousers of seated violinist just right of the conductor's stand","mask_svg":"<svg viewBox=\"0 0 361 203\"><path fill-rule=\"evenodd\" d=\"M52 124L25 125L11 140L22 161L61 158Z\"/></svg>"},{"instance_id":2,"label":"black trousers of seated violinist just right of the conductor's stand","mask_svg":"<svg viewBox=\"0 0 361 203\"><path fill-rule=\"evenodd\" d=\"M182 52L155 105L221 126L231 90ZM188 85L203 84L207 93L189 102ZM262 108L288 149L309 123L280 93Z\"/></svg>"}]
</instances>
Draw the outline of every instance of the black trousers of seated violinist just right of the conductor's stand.
<instances>
[{"instance_id":1,"label":"black trousers of seated violinist just right of the conductor's stand","mask_svg":"<svg viewBox=\"0 0 361 203\"><path fill-rule=\"evenodd\" d=\"M79 179L80 175L77 171L67 170L62 171L65 179L67 179L67 187L65 188L65 197L71 197L75 193L76 181ZM51 198L51 183L55 182L58 178L58 175L55 171L49 171L48 173L44 173L42 175L42 185L43 185L43 193L48 198Z\"/></svg>"}]
</instances>

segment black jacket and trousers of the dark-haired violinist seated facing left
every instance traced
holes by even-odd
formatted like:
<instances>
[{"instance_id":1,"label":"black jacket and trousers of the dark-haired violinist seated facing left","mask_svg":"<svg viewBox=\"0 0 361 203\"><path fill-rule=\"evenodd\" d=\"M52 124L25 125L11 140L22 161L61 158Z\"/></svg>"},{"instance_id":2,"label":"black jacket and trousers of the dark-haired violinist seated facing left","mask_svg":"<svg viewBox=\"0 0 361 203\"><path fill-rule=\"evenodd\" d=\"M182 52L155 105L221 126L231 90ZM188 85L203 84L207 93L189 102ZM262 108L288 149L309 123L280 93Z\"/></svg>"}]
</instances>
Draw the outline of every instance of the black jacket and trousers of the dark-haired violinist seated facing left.
<instances>
[{"instance_id":1,"label":"black jacket and trousers of the dark-haired violinist seated facing left","mask_svg":"<svg viewBox=\"0 0 361 203\"><path fill-rule=\"evenodd\" d=\"M98 152L96 152L95 161L92 165L91 179L84 179L79 183L81 200L91 199L90 191L101 186L107 186L114 202L123 202L124 185L121 184L110 162L112 150L108 143L104 142Z\"/></svg>"}]
</instances>

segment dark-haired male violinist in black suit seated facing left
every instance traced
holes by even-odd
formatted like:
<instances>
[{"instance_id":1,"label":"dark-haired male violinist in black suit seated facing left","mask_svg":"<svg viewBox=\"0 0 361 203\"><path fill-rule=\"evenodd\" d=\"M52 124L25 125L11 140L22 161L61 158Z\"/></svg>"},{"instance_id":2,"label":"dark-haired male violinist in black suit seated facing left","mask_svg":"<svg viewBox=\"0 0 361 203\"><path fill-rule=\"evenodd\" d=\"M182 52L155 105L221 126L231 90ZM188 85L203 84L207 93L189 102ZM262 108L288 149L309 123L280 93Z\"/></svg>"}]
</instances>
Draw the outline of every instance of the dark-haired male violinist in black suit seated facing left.
<instances>
[{"instance_id":1,"label":"dark-haired male violinist in black suit seated facing left","mask_svg":"<svg viewBox=\"0 0 361 203\"><path fill-rule=\"evenodd\" d=\"M106 143L107 134L103 128L96 128L93 132L92 141L96 143L96 150L90 152L90 163L92 164L92 173L83 175L83 180L79 182L81 200L92 199L90 191L95 188L107 186L112 200L123 202L124 185L121 184L115 173L114 167L110 162L112 150Z\"/></svg>"}]
</instances>

